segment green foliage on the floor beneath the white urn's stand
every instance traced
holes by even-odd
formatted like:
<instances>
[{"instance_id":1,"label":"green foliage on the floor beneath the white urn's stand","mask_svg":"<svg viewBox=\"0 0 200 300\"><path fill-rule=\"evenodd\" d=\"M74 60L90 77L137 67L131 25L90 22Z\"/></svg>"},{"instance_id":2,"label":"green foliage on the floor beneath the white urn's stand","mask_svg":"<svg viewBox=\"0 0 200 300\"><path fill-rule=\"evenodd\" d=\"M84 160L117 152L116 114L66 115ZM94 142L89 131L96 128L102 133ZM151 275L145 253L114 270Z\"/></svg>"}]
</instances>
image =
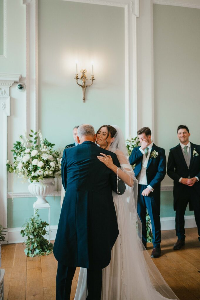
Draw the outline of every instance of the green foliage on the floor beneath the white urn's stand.
<instances>
[{"instance_id":1,"label":"green foliage on the floor beneath the white urn's stand","mask_svg":"<svg viewBox=\"0 0 200 300\"><path fill-rule=\"evenodd\" d=\"M24 241L26 248L24 252L26 256L34 257L36 255L49 255L53 250L53 244L49 243L44 238L46 226L49 224L42 221L39 218L38 210L35 211L35 215L29 218L29 221L23 225L24 229L21 230L21 235L26 235L28 238Z\"/></svg>"}]
</instances>

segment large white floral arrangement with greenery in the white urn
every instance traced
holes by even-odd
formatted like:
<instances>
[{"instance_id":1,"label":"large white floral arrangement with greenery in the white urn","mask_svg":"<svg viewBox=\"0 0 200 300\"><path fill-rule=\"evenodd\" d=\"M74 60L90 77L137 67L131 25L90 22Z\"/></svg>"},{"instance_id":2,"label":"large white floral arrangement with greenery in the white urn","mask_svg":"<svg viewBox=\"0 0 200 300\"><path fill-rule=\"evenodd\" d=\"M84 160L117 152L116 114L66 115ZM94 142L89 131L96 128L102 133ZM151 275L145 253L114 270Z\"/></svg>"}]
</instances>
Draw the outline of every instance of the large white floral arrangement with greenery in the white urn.
<instances>
[{"instance_id":1,"label":"large white floral arrangement with greenery in the white urn","mask_svg":"<svg viewBox=\"0 0 200 300\"><path fill-rule=\"evenodd\" d=\"M61 175L61 152L52 148L48 140L43 139L39 130L29 137L20 136L20 140L14 143L14 149L11 150L14 156L14 163L7 161L7 170L10 173L16 173L19 178L28 179L29 182L39 182L45 178L55 178ZM38 135L37 135L38 133ZM39 136L39 139L38 139ZM37 145L37 142L39 143Z\"/></svg>"}]
</instances>

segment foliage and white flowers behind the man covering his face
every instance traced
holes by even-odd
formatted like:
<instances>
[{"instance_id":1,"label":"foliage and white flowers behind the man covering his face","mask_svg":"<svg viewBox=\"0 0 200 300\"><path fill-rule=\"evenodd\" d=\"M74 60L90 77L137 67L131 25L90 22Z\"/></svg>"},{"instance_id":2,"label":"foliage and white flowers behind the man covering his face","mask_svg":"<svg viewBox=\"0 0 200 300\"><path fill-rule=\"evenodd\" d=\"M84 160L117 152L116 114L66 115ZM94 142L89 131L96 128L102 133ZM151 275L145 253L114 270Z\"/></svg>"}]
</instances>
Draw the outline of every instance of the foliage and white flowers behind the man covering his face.
<instances>
[{"instance_id":1,"label":"foliage and white flowers behind the man covering his face","mask_svg":"<svg viewBox=\"0 0 200 300\"><path fill-rule=\"evenodd\" d=\"M128 150L129 156L131 155L131 152L133 151L133 149L135 147L139 146L139 143L140 143L140 141L139 141L138 137L135 137L135 138L130 137L129 139L126 140L126 148ZM134 170L135 164L132 166L132 168ZM146 239L147 239L148 243L152 243L152 237L153 237L150 225L151 225L151 220L150 220L148 212L146 212Z\"/></svg>"}]
</instances>

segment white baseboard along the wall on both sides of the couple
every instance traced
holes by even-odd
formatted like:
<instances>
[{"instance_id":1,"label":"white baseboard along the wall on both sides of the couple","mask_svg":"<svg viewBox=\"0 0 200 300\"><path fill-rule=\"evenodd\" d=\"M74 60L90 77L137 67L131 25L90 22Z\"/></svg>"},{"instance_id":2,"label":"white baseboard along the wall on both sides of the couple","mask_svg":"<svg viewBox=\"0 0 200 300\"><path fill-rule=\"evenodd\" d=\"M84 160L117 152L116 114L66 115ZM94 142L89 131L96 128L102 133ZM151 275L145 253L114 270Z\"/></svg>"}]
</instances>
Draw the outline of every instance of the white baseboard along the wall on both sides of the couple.
<instances>
[{"instance_id":1,"label":"white baseboard along the wall on both sides of the couple","mask_svg":"<svg viewBox=\"0 0 200 300\"><path fill-rule=\"evenodd\" d=\"M175 229L175 217L160 218L160 222L161 222L161 230ZM185 228L195 228L195 227L197 226L195 223L194 216L185 216ZM58 228L57 225L52 225L50 227L51 240L55 240L57 228ZM8 228L8 237L6 236L6 239L8 240L8 244L23 243L25 241L26 236L22 237L20 235L20 231L21 231L21 227ZM46 235L45 238L48 239L48 235Z\"/></svg>"}]
</instances>

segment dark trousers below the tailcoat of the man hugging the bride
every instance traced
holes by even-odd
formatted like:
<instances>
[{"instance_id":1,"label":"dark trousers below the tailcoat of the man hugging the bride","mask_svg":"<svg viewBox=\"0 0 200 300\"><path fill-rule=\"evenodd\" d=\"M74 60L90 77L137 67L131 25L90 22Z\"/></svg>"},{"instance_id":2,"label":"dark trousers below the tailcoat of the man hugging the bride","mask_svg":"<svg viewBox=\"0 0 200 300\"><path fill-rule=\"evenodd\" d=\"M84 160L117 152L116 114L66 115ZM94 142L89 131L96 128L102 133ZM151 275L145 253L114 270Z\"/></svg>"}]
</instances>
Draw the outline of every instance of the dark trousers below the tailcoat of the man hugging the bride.
<instances>
[{"instance_id":1,"label":"dark trousers below the tailcoat of the man hugging the bride","mask_svg":"<svg viewBox=\"0 0 200 300\"><path fill-rule=\"evenodd\" d=\"M67 267L58 262L56 276L56 300L70 300L72 279L76 267ZM100 300L102 287L102 269L87 269L87 300Z\"/></svg>"}]
</instances>

